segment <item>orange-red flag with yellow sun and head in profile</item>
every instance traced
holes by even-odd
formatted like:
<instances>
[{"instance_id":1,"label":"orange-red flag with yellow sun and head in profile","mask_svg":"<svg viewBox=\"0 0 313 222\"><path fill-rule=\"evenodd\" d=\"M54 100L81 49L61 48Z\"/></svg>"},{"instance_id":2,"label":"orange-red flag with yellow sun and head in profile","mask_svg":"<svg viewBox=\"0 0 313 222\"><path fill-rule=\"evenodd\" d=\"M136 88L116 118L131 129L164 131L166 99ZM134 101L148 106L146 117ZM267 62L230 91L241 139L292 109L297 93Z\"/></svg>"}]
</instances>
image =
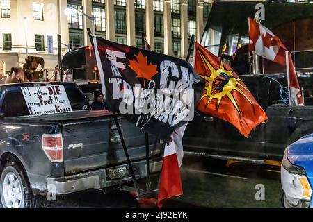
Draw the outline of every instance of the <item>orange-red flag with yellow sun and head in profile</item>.
<instances>
[{"instance_id":1,"label":"orange-red flag with yellow sun and head in profile","mask_svg":"<svg viewBox=\"0 0 313 222\"><path fill-rule=\"evenodd\" d=\"M266 121L266 113L239 76L198 42L193 67L206 81L197 110L232 123L245 137Z\"/></svg>"}]
</instances>

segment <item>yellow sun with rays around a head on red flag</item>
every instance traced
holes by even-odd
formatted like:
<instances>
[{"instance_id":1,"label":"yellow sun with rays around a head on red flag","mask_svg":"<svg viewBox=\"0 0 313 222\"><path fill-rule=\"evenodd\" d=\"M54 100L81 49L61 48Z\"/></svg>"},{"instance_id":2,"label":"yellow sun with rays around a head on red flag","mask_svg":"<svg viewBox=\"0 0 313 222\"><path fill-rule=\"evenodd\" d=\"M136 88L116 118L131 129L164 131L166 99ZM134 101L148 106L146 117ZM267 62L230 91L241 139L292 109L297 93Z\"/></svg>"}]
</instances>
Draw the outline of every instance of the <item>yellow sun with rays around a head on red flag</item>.
<instances>
[{"instance_id":1,"label":"yellow sun with rays around a head on red flag","mask_svg":"<svg viewBox=\"0 0 313 222\"><path fill-rule=\"evenodd\" d=\"M239 105L236 102L236 99L232 95L232 91L236 90L236 92L239 92L241 95L243 95L248 102L252 104L252 101L246 96L246 94L242 91L240 87L243 89L246 89L246 86L240 83L242 80L240 78L236 78L232 73L234 71L232 70L226 70L224 68L222 60L220 60L220 67L218 69L214 69L214 67L209 63L209 61L201 55L204 62L206 63L207 67L209 67L209 70L211 71L210 76L204 76L204 75L199 75L204 80L208 83L204 87L206 92L202 94L201 99L207 98L207 103L205 104L206 106L213 100L216 99L216 110L218 110L220 106L220 102L224 98L224 96L227 96L228 99L232 102L236 110L238 111L239 114L241 114L241 111L239 109ZM248 90L249 91L249 90Z\"/></svg>"}]
</instances>

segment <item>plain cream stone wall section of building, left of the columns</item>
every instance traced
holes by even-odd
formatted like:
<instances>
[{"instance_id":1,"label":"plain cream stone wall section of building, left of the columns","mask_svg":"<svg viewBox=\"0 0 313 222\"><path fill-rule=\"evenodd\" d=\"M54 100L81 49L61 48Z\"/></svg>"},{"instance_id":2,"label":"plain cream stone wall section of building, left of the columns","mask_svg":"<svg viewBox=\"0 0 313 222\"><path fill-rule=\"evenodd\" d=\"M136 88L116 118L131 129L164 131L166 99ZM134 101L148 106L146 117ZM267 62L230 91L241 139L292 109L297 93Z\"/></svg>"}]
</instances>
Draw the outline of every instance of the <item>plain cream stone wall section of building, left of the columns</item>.
<instances>
[{"instance_id":1,"label":"plain cream stone wall section of building, left of the columns","mask_svg":"<svg viewBox=\"0 0 313 222\"><path fill-rule=\"evenodd\" d=\"M1 0L0 69L20 67L26 53L42 56L45 68L54 68L57 35L60 33L65 43L69 38L65 8L67 1L62 0Z\"/></svg>"}]
</instances>

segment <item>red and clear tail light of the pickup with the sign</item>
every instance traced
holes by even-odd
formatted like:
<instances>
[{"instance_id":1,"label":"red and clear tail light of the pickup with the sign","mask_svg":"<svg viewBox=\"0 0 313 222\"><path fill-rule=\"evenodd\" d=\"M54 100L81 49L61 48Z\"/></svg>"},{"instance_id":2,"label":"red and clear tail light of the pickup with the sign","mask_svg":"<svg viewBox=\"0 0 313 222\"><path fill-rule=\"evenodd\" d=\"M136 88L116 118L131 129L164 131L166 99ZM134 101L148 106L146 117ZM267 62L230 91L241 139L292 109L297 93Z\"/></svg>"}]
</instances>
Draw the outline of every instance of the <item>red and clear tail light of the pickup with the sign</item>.
<instances>
[{"instance_id":1,"label":"red and clear tail light of the pickup with the sign","mask_svg":"<svg viewBox=\"0 0 313 222\"><path fill-rule=\"evenodd\" d=\"M42 149L51 162L63 162L62 134L43 134Z\"/></svg>"}]
</instances>

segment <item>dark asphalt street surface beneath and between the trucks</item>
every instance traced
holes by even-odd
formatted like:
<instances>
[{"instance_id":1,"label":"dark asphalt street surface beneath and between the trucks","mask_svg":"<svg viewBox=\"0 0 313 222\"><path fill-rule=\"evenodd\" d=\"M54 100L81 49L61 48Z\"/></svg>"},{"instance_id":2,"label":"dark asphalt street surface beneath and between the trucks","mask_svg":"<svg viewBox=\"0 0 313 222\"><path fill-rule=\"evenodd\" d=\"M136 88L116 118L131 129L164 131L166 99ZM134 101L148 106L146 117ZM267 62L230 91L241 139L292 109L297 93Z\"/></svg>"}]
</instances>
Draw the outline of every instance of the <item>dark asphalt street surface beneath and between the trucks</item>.
<instances>
[{"instance_id":1,"label":"dark asphalt street surface beneath and between the trucks","mask_svg":"<svg viewBox=\"0 0 313 222\"><path fill-rule=\"evenodd\" d=\"M182 166L184 195L167 200L164 207L282 207L280 167L221 160L185 158ZM264 200L256 200L264 185ZM260 196L261 197L261 196ZM56 201L38 200L37 207L157 207L156 198L138 202L125 191L103 194L83 191L58 196Z\"/></svg>"}]
</instances>

